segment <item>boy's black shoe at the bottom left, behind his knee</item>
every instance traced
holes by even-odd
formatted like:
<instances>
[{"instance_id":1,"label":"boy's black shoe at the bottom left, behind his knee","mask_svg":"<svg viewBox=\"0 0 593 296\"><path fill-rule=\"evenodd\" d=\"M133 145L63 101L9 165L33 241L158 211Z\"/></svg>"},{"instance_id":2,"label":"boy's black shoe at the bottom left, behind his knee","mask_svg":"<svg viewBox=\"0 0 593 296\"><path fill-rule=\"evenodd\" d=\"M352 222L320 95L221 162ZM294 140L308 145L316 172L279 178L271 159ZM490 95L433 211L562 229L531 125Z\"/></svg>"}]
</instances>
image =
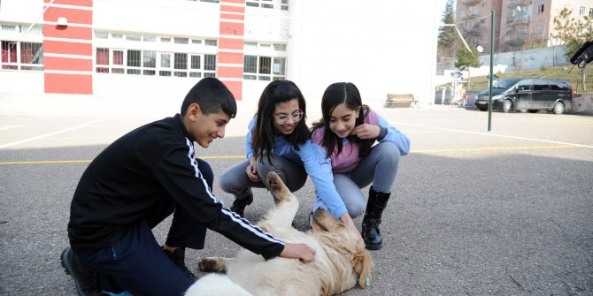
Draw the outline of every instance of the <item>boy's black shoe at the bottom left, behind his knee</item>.
<instances>
[{"instance_id":1,"label":"boy's black shoe at the bottom left, behind his knee","mask_svg":"<svg viewBox=\"0 0 593 296\"><path fill-rule=\"evenodd\" d=\"M104 296L99 288L99 273L96 269L83 267L70 247L66 247L60 256L65 273L71 275L79 296Z\"/></svg>"}]
</instances>

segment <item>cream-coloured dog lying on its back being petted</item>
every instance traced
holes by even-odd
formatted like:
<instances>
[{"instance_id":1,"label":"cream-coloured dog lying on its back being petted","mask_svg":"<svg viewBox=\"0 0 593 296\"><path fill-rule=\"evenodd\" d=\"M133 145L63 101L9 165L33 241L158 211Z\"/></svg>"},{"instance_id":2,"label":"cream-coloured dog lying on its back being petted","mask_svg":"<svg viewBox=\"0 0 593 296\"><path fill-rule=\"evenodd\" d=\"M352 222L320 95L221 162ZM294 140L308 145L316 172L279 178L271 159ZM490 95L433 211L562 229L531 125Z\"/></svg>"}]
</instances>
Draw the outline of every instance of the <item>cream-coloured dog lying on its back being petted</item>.
<instances>
[{"instance_id":1,"label":"cream-coloured dog lying on its back being petted","mask_svg":"<svg viewBox=\"0 0 593 296\"><path fill-rule=\"evenodd\" d=\"M284 241L314 248L315 259L306 264L281 257L265 261L246 249L235 258L206 257L199 262L202 271L226 273L227 277L202 277L189 287L186 296L333 295L355 287L357 282L366 288L373 259L358 233L335 221L324 209L313 213L312 231L297 231L291 225L297 215L297 198L274 172L268 174L267 182L280 202L258 226Z\"/></svg>"}]
</instances>

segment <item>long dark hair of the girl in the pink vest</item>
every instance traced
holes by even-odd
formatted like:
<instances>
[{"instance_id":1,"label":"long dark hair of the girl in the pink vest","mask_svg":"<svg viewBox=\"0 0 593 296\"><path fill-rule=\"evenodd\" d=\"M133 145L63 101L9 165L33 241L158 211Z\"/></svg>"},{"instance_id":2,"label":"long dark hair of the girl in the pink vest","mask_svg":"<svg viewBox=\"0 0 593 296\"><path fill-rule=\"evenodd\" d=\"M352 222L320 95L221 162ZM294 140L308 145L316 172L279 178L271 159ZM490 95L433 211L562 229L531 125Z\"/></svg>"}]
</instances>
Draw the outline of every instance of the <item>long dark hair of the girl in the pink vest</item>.
<instances>
[{"instance_id":1,"label":"long dark hair of the girl in the pink vest","mask_svg":"<svg viewBox=\"0 0 593 296\"><path fill-rule=\"evenodd\" d=\"M323 139L321 140L321 145L327 148L327 157L332 155L336 146L338 148L338 154L342 152L342 139L329 128L329 119L332 112L337 105L342 103L350 110L358 109L358 118L356 118L355 126L365 123L366 114L368 114L368 111L370 110L367 105L363 105L358 87L354 84L350 82L336 82L326 88L326 91L321 98L321 114L323 115L323 118L313 123L312 132L314 133L322 126L326 128L325 133L323 134ZM357 136L350 135L347 139L352 143L358 143L360 147L358 157L366 156L371 150L375 140L362 140Z\"/></svg>"}]
</instances>

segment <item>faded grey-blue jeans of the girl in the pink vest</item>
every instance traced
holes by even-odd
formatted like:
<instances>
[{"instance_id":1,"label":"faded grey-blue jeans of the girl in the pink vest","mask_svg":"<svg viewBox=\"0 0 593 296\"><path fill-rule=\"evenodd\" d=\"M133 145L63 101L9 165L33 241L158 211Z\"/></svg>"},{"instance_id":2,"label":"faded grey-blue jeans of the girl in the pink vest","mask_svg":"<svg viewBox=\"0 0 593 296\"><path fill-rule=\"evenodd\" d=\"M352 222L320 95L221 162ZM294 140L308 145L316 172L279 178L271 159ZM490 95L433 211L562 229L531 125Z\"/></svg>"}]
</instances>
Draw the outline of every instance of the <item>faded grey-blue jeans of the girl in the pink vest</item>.
<instances>
[{"instance_id":1,"label":"faded grey-blue jeans of the girl in the pink vest","mask_svg":"<svg viewBox=\"0 0 593 296\"><path fill-rule=\"evenodd\" d=\"M365 194L360 188L373 183L374 191L389 194L396 180L399 166L399 149L396 144L383 141L373 148L352 171L334 173L334 185L352 218L366 209Z\"/></svg>"}]
</instances>

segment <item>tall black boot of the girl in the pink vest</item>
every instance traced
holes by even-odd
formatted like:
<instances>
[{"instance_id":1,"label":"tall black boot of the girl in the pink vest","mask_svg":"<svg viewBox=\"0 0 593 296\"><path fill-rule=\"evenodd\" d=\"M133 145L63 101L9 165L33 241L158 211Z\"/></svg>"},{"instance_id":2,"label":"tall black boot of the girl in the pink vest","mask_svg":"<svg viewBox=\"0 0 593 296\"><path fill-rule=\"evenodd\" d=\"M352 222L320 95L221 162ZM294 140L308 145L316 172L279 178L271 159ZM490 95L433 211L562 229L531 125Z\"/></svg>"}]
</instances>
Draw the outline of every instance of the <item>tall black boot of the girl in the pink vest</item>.
<instances>
[{"instance_id":1,"label":"tall black boot of the girl in the pink vest","mask_svg":"<svg viewBox=\"0 0 593 296\"><path fill-rule=\"evenodd\" d=\"M376 192L372 186L368 192L365 217L362 219L362 239L365 240L365 247L369 250L378 250L383 245L379 224L390 195L391 193Z\"/></svg>"}]
</instances>

